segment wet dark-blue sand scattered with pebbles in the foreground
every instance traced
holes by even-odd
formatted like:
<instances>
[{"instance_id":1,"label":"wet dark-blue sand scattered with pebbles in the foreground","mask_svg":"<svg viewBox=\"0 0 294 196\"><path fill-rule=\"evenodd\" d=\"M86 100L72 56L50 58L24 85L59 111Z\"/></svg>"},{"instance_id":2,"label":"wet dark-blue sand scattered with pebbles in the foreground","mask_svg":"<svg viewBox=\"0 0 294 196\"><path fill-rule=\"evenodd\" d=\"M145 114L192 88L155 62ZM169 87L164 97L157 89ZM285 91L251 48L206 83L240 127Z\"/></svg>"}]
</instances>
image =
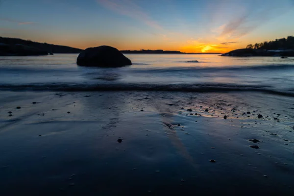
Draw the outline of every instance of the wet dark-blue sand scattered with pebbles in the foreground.
<instances>
[{"instance_id":1,"label":"wet dark-blue sand scattered with pebbles in the foreground","mask_svg":"<svg viewBox=\"0 0 294 196\"><path fill-rule=\"evenodd\" d=\"M3 196L294 194L291 97L1 91L0 103Z\"/></svg>"}]
</instances>

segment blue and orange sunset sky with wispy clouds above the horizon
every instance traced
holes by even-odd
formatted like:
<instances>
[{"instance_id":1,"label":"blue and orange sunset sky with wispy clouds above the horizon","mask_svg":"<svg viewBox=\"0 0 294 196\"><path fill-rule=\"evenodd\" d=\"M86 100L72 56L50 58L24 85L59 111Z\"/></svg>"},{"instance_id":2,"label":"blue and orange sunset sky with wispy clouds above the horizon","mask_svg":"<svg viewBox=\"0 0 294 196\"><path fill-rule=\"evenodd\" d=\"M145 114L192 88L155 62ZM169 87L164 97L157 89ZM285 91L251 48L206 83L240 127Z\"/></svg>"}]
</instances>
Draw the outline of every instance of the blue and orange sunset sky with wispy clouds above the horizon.
<instances>
[{"instance_id":1,"label":"blue and orange sunset sky with wispy clouds above the horizon","mask_svg":"<svg viewBox=\"0 0 294 196\"><path fill-rule=\"evenodd\" d=\"M86 49L227 52L294 35L294 0L0 0L0 36Z\"/></svg>"}]
</instances>

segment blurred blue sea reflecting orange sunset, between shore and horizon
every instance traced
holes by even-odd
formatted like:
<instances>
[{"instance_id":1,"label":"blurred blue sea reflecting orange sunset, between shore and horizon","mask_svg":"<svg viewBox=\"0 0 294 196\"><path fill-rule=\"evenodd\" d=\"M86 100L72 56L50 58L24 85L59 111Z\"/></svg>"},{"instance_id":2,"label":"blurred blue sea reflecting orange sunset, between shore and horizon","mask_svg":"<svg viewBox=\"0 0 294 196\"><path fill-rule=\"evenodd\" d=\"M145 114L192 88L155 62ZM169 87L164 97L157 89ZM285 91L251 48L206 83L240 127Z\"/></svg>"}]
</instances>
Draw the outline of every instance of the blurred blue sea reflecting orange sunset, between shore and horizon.
<instances>
[{"instance_id":1,"label":"blurred blue sea reflecting orange sunset, between shore and horizon","mask_svg":"<svg viewBox=\"0 0 294 196\"><path fill-rule=\"evenodd\" d=\"M294 58L222 57L216 54L126 56L133 65L123 68L79 67L75 63L77 54L0 57L0 89L250 90L294 95Z\"/></svg>"}]
</instances>

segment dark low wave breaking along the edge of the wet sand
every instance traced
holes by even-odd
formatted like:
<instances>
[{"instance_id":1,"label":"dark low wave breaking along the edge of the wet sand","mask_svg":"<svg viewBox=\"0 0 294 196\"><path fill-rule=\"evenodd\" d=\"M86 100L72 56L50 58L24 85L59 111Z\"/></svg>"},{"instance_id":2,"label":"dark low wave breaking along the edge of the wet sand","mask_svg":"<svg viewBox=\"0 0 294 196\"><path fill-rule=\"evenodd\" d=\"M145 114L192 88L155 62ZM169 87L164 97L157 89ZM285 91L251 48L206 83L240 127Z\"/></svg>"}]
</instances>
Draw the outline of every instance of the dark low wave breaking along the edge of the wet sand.
<instances>
[{"instance_id":1,"label":"dark low wave breaking along the edge of the wet sand","mask_svg":"<svg viewBox=\"0 0 294 196\"><path fill-rule=\"evenodd\" d=\"M294 91L278 91L270 86L232 84L0 84L9 91L171 91L171 92L241 92L253 91L294 97Z\"/></svg>"}]
</instances>

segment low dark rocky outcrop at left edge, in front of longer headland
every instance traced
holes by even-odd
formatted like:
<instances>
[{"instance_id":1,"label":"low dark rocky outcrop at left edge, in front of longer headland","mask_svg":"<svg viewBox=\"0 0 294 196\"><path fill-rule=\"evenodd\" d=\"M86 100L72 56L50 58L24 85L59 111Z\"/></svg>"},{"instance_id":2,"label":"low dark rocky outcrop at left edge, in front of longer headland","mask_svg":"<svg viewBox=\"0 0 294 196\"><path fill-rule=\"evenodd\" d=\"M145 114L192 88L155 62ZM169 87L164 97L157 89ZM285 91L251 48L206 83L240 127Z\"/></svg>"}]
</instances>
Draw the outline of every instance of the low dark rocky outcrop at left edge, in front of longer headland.
<instances>
[{"instance_id":1,"label":"low dark rocky outcrop at left edge, in front of longer headland","mask_svg":"<svg viewBox=\"0 0 294 196\"><path fill-rule=\"evenodd\" d=\"M0 56L48 55L48 51L21 44L8 45L0 43Z\"/></svg>"}]
</instances>

